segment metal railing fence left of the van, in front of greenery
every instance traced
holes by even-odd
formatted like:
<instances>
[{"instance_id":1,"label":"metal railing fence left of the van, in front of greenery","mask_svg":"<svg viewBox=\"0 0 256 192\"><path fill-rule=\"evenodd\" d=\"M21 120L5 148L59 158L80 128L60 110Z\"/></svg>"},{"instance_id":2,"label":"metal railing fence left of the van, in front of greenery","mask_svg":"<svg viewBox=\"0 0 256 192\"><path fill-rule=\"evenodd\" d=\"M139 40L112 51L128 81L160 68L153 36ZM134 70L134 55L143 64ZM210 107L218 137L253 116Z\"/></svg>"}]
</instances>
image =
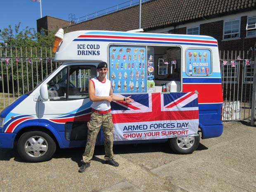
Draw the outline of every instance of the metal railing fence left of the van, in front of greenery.
<instances>
[{"instance_id":1,"label":"metal railing fence left of the van, in front of greenery","mask_svg":"<svg viewBox=\"0 0 256 192\"><path fill-rule=\"evenodd\" d=\"M0 47L0 102L7 107L20 95L32 90L59 63L52 61L47 47Z\"/></svg>"}]
</instances>

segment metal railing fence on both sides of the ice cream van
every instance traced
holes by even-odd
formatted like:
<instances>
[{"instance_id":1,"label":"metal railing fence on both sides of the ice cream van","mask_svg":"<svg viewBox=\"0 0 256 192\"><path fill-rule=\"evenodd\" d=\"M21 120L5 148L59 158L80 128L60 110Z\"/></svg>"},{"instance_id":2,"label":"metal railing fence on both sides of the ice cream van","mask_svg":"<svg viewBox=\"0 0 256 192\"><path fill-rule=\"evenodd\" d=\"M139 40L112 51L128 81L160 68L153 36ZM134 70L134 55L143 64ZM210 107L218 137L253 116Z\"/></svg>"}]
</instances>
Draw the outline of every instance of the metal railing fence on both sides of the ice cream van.
<instances>
[{"instance_id":1,"label":"metal railing fence on both sides of the ice cream van","mask_svg":"<svg viewBox=\"0 0 256 192\"><path fill-rule=\"evenodd\" d=\"M223 86L223 122L251 119L254 52L220 51ZM59 63L52 61L51 48L0 47L0 105L32 90ZM255 108L255 106L254 106Z\"/></svg>"}]
</instances>

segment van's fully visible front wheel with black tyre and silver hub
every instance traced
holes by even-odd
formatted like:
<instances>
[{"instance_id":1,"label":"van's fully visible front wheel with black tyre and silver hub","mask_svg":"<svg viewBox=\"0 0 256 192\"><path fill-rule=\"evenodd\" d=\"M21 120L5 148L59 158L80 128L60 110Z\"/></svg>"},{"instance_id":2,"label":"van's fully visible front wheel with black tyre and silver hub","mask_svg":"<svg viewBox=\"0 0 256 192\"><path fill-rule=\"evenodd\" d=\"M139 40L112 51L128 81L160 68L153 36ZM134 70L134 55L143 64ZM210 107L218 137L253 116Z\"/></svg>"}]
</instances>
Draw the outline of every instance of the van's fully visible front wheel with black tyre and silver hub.
<instances>
[{"instance_id":1,"label":"van's fully visible front wheel with black tyre and silver hub","mask_svg":"<svg viewBox=\"0 0 256 192\"><path fill-rule=\"evenodd\" d=\"M19 137L17 151L25 161L47 161L55 153L56 143L47 133L29 131Z\"/></svg>"}]
</instances>

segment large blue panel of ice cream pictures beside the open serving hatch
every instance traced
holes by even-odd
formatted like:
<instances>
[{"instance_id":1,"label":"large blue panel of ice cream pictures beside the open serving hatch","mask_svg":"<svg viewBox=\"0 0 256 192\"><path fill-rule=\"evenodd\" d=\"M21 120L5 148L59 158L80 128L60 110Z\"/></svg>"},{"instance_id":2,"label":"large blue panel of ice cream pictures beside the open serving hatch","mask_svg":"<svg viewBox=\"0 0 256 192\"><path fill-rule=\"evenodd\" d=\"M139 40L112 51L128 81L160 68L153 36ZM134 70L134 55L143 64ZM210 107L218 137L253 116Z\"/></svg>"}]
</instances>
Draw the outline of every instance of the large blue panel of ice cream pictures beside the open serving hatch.
<instances>
[{"instance_id":1,"label":"large blue panel of ice cream pictures beside the open serving hatch","mask_svg":"<svg viewBox=\"0 0 256 192\"><path fill-rule=\"evenodd\" d=\"M114 93L147 92L145 55L145 46L109 47L109 75Z\"/></svg>"}]
</instances>

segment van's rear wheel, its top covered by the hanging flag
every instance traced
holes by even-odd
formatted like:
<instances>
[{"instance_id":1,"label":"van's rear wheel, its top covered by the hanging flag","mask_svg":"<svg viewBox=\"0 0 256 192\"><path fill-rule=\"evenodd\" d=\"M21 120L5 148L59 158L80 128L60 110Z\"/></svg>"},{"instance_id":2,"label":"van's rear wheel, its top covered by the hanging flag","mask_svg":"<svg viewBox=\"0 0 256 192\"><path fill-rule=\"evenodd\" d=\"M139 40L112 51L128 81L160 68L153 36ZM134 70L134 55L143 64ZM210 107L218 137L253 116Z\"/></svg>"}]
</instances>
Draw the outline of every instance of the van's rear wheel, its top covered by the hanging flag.
<instances>
[{"instance_id":1,"label":"van's rear wheel, its top covered by the hanging flag","mask_svg":"<svg viewBox=\"0 0 256 192\"><path fill-rule=\"evenodd\" d=\"M197 149L200 136L175 137L168 139L171 150L177 154L191 154Z\"/></svg>"}]
</instances>

